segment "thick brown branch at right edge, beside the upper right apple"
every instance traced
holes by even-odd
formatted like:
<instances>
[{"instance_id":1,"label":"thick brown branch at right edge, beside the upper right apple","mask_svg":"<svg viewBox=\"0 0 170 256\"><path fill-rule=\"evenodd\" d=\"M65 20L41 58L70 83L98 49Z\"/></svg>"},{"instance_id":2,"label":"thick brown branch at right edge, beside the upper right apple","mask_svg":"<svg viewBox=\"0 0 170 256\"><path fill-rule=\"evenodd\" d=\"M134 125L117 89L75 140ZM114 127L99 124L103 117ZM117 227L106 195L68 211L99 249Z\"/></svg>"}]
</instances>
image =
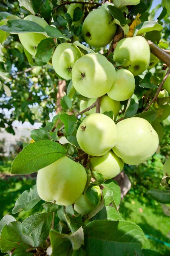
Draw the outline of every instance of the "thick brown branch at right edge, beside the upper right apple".
<instances>
[{"instance_id":1,"label":"thick brown branch at right edge, beside the upper right apple","mask_svg":"<svg viewBox=\"0 0 170 256\"><path fill-rule=\"evenodd\" d=\"M148 40L147 43L150 46L150 52L170 67L170 55L156 44L153 44L152 41Z\"/></svg>"}]
</instances>

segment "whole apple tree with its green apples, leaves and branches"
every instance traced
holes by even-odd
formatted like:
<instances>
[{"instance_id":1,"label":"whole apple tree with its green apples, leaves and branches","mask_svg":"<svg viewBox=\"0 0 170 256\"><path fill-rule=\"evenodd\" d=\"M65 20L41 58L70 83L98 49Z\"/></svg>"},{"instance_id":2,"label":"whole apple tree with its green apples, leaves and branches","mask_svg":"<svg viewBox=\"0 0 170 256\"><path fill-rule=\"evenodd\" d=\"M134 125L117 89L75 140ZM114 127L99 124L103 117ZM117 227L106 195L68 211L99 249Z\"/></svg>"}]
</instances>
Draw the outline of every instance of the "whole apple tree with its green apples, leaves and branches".
<instances>
[{"instance_id":1,"label":"whole apple tree with its green apples, leaves and branches","mask_svg":"<svg viewBox=\"0 0 170 256\"><path fill-rule=\"evenodd\" d=\"M42 209L23 222L3 217L2 253L159 255L146 249L142 229L120 215L115 180L125 165L170 150L168 140L162 143L162 121L170 115L170 3L162 0L153 21L152 2L0 4L0 125L14 134L16 119L43 123L11 167L13 175L38 172L37 185L20 195L12 214L40 201ZM149 191L162 204L170 204L169 160L164 190Z\"/></svg>"}]
</instances>

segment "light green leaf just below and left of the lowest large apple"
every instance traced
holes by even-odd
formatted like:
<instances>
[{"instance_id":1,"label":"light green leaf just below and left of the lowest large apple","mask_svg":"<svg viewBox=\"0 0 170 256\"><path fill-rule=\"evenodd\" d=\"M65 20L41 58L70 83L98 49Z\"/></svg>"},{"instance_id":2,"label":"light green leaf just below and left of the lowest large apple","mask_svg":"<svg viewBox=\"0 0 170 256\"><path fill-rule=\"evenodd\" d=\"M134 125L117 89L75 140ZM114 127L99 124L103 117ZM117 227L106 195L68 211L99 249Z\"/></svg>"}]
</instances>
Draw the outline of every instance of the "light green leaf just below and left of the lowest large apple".
<instances>
[{"instance_id":1,"label":"light green leaf just below and left of the lowest large apple","mask_svg":"<svg viewBox=\"0 0 170 256\"><path fill-rule=\"evenodd\" d=\"M31 210L41 198L37 193L37 186L34 185L29 190L25 190L15 202L15 206L12 209L12 214L15 214L20 211L27 212Z\"/></svg>"}]
</instances>

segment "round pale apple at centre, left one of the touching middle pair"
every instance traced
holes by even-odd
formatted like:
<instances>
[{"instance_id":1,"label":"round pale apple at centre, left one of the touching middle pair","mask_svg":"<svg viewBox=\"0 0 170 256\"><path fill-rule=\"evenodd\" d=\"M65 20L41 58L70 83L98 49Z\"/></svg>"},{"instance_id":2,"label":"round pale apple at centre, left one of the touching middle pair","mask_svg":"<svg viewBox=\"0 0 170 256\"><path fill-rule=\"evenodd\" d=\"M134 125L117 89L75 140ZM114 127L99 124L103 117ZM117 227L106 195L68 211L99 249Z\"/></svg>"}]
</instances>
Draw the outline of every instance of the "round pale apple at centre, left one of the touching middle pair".
<instances>
[{"instance_id":1,"label":"round pale apple at centre, left one of the touching middle pair","mask_svg":"<svg viewBox=\"0 0 170 256\"><path fill-rule=\"evenodd\" d=\"M103 114L87 116L77 130L80 148L92 156L102 156L114 147L117 130L114 121Z\"/></svg>"}]
</instances>

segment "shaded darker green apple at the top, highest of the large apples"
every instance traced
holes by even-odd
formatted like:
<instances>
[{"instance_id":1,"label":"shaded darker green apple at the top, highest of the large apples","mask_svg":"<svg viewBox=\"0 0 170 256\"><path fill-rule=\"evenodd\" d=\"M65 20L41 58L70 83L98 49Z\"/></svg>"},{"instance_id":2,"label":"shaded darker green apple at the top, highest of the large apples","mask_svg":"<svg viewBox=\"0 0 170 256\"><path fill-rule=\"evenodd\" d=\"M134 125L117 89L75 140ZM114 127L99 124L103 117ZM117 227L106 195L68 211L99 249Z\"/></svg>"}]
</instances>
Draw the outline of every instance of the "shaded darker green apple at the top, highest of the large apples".
<instances>
[{"instance_id":1,"label":"shaded darker green apple at the top, highest of the large apples","mask_svg":"<svg viewBox=\"0 0 170 256\"><path fill-rule=\"evenodd\" d=\"M110 12L105 8L90 12L82 25L86 43L94 47L104 47L109 44L116 32L116 25L112 20Z\"/></svg>"}]
</instances>

